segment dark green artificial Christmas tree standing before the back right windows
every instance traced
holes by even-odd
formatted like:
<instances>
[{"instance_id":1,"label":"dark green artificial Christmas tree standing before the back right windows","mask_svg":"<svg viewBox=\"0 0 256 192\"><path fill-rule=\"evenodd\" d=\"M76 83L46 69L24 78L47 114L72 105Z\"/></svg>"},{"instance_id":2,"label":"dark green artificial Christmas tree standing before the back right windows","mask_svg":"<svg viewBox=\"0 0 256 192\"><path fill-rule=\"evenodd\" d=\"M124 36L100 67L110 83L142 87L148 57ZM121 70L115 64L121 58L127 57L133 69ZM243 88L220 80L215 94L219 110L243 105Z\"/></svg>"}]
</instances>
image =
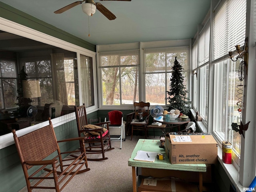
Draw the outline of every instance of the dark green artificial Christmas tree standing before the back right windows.
<instances>
[{"instance_id":1,"label":"dark green artificial Christmas tree standing before the back right windows","mask_svg":"<svg viewBox=\"0 0 256 192\"><path fill-rule=\"evenodd\" d=\"M175 57L174 66L172 66L172 76L170 78L170 91L167 91L169 97L167 98L170 106L168 111L178 109L181 113L189 115L191 101L186 97L188 90L184 86L184 77L182 76L182 66Z\"/></svg>"}]
</instances>

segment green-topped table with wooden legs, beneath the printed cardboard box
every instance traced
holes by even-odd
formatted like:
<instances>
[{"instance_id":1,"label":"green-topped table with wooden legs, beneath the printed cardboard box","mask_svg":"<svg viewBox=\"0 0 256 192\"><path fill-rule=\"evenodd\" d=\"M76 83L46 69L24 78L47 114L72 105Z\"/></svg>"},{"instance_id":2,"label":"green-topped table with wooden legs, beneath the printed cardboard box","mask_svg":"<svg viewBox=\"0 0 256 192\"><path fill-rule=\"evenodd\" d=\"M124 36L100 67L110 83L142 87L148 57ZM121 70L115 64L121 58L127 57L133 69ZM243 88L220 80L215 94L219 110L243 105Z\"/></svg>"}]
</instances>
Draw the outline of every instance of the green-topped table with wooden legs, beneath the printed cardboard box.
<instances>
[{"instance_id":1,"label":"green-topped table with wooden legs, beneath the printed cardboard box","mask_svg":"<svg viewBox=\"0 0 256 192\"><path fill-rule=\"evenodd\" d=\"M133 192L137 192L135 167L199 172L199 191L202 192L202 187L203 187L202 172L206 172L206 164L171 164L170 160L168 159L168 156L165 153L164 148L160 148L159 145L160 145L160 140L153 140L153 139L138 140L132 152L132 155L128 161L128 166L132 166ZM138 150L162 153L164 154L164 160L158 160L157 158L154 162L134 160L134 157L136 156L136 153Z\"/></svg>"}]
</instances>

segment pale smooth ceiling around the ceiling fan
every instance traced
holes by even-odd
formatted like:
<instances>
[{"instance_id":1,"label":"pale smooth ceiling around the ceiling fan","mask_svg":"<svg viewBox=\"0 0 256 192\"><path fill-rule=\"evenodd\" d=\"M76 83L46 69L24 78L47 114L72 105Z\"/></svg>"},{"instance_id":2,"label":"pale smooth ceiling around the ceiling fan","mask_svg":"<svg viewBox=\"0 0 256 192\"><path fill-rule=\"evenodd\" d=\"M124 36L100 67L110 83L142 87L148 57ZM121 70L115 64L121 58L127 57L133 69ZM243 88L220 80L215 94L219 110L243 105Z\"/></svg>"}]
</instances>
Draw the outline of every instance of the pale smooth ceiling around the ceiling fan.
<instances>
[{"instance_id":1,"label":"pale smooth ceiling around the ceiling fan","mask_svg":"<svg viewBox=\"0 0 256 192\"><path fill-rule=\"evenodd\" d=\"M95 45L193 38L210 9L210 0L94 0L117 18L108 20L98 10L93 16L87 16L82 12L82 5L54 14L75 1L1 0Z\"/></svg>"}]
</instances>

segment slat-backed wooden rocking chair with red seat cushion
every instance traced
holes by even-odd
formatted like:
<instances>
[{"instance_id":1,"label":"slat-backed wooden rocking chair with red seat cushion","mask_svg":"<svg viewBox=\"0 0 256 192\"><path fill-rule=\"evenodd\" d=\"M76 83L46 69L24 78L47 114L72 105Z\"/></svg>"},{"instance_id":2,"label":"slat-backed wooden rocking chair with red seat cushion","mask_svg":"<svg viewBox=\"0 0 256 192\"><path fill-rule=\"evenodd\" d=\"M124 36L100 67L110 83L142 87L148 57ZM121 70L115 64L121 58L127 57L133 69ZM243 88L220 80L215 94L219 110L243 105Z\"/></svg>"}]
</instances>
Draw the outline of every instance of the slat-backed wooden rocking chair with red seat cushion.
<instances>
[{"instance_id":1,"label":"slat-backed wooden rocking chair with red seat cushion","mask_svg":"<svg viewBox=\"0 0 256 192\"><path fill-rule=\"evenodd\" d=\"M108 159L105 157L107 150L114 149L111 146L110 132L109 132L109 121L101 122L96 124L88 124L86 115L86 106L75 106L76 123L78 129L78 135L86 135L84 142L86 144L86 154L102 154L101 158L87 158L88 161L100 161ZM104 126L106 125L106 129ZM106 130L104 132L104 130ZM89 136L92 132L96 132L98 135Z\"/></svg>"}]
</instances>

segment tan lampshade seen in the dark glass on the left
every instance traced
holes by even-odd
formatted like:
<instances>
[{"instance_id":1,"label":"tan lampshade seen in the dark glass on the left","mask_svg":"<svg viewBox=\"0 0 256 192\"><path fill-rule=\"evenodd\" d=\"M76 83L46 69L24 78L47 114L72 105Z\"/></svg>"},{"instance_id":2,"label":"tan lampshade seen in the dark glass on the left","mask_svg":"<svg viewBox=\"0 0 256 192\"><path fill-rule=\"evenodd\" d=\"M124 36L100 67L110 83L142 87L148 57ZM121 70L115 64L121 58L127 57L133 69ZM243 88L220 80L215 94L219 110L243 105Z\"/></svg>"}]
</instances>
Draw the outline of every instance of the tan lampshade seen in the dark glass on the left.
<instances>
[{"instance_id":1,"label":"tan lampshade seen in the dark glass on the left","mask_svg":"<svg viewBox=\"0 0 256 192\"><path fill-rule=\"evenodd\" d=\"M22 81L22 87L24 98L41 97L40 84L38 80Z\"/></svg>"}]
</instances>

